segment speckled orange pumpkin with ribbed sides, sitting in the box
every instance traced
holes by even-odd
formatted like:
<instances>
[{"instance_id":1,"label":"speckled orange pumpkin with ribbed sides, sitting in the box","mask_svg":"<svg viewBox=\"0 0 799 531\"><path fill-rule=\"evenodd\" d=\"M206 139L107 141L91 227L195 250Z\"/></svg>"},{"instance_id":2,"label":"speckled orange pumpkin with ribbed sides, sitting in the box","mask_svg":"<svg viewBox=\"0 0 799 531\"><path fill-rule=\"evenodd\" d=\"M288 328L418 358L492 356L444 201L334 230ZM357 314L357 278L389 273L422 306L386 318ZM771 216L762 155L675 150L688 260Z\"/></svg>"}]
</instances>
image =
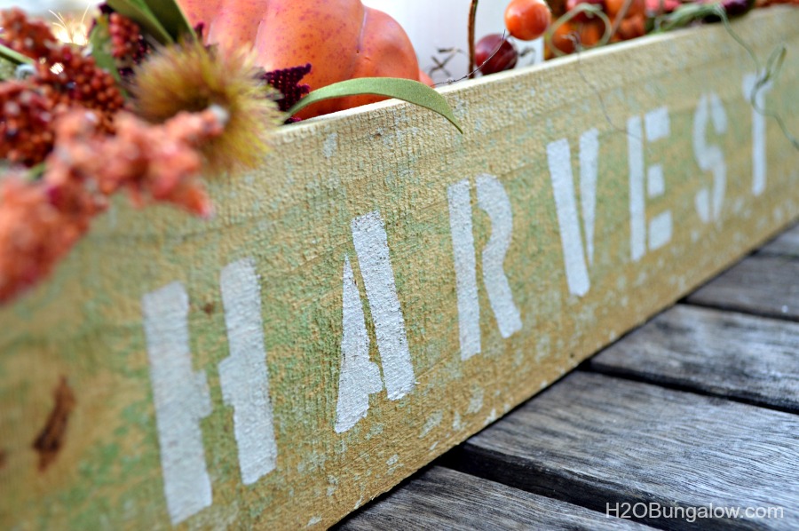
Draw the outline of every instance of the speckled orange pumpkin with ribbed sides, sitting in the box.
<instances>
[{"instance_id":1,"label":"speckled orange pumpkin with ribbed sides, sitting in the box","mask_svg":"<svg viewBox=\"0 0 799 531\"><path fill-rule=\"evenodd\" d=\"M420 79L413 45L396 20L360 0L178 0L206 44L249 47L265 70L311 63L311 89L354 77ZM355 96L320 101L301 118L384 99Z\"/></svg>"}]
</instances>

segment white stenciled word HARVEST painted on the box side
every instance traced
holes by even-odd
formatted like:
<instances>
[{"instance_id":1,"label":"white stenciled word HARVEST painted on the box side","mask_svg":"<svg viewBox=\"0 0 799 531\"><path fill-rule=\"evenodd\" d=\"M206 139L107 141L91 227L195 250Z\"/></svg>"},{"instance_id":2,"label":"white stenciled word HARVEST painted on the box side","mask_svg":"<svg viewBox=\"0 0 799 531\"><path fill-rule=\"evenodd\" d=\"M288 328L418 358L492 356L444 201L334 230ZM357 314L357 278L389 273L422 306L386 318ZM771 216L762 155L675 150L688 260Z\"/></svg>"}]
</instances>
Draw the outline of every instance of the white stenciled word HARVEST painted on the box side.
<instances>
[{"instance_id":1,"label":"white stenciled word HARVEST painted on the box side","mask_svg":"<svg viewBox=\"0 0 799 531\"><path fill-rule=\"evenodd\" d=\"M755 75L747 75L743 96L755 90ZM763 107L762 87L755 103ZM692 150L699 169L712 175L694 197L700 220L711 223L724 209L727 170L721 147L708 141L729 126L722 100L703 94L694 112ZM766 123L752 111L751 193L766 188ZM667 140L671 134L668 108L654 108L627 120L629 161L629 258L637 262L672 239L674 218L670 210L647 213L647 200L666 192L663 166L645 161L645 144ZM558 139L546 147L547 162L557 210L560 240L571 294L583 297L591 289L589 269L594 259L597 206L599 133L585 131L579 140L579 179L575 185L572 146ZM502 182L487 173L474 181L463 179L448 186L452 249L455 264L460 357L465 362L482 350L479 326L477 253L472 231L476 207L491 221L491 235L482 250L482 283L503 338L522 329L522 319L503 269L510 248L513 213ZM579 196L578 196L579 190ZM579 202L578 202L579 197ZM647 219L649 222L647 223ZM344 256L343 333L338 381L336 433L347 432L368 415L369 395L385 390L389 400L413 392L415 373L408 348L406 322L399 304L391 250L379 211L352 219L354 257ZM380 366L369 359L369 335L352 260L357 260L372 316ZM261 287L256 264L245 258L223 268L219 288L225 310L229 357L218 366L225 404L233 408L234 436L238 446L241 481L250 485L276 467L278 448L273 425L273 405L266 365ZM189 297L180 282L173 282L142 297L144 329L153 386L155 422L161 448L164 491L173 524L187 519L212 502L211 480L205 461L200 420L212 409L205 371L195 372L189 347Z\"/></svg>"}]
</instances>

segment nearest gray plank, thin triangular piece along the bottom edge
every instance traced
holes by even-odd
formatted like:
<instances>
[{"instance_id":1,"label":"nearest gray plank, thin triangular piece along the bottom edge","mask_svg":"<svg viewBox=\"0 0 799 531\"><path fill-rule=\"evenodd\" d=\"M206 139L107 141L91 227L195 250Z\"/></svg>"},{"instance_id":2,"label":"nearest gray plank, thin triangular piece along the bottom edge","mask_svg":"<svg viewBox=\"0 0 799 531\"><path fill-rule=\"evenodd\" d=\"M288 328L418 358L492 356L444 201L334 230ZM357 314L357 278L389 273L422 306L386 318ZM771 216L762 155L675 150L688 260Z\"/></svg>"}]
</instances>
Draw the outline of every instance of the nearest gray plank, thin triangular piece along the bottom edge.
<instances>
[{"instance_id":1,"label":"nearest gray plank, thin triangular piece along the bottom edge","mask_svg":"<svg viewBox=\"0 0 799 531\"><path fill-rule=\"evenodd\" d=\"M344 520L338 529L651 529L629 519L432 467Z\"/></svg>"}]
</instances>

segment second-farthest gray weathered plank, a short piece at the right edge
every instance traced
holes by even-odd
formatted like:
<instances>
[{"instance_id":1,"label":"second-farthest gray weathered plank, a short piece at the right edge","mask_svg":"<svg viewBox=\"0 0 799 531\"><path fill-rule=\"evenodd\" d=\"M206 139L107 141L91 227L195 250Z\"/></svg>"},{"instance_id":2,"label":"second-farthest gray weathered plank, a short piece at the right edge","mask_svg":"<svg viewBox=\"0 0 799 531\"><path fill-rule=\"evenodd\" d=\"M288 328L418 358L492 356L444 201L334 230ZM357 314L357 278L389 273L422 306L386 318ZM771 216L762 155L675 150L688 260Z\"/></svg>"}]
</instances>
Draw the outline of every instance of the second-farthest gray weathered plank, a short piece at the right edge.
<instances>
[{"instance_id":1,"label":"second-farthest gray weathered plank, a short piece at the right edge","mask_svg":"<svg viewBox=\"0 0 799 531\"><path fill-rule=\"evenodd\" d=\"M799 320L799 259L746 258L685 300L690 304Z\"/></svg>"}]
</instances>

